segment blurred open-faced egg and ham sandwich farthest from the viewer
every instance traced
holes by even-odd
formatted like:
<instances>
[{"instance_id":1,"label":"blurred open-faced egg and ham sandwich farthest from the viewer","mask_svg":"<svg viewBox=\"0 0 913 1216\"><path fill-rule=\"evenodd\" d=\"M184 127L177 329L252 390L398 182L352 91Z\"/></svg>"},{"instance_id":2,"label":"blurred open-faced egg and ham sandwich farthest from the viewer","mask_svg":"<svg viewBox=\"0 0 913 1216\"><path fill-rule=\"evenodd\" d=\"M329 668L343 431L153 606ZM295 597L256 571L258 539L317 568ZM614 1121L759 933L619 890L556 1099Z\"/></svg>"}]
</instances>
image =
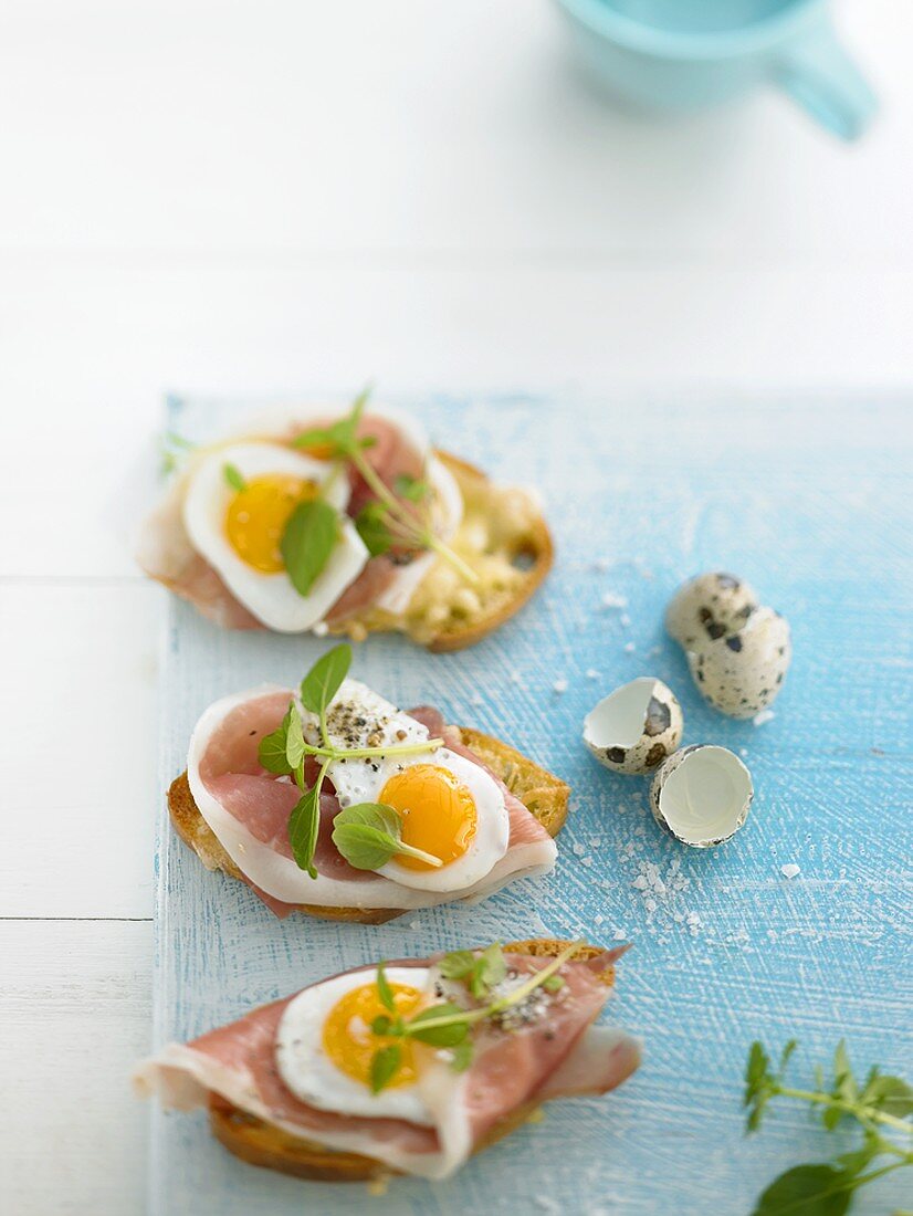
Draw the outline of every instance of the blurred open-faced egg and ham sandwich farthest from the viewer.
<instances>
[{"instance_id":1,"label":"blurred open-faced egg and ham sandwich farthest from the viewer","mask_svg":"<svg viewBox=\"0 0 913 1216\"><path fill-rule=\"evenodd\" d=\"M390 410L289 411L187 454L145 522L140 564L227 629L398 630L478 642L545 579L532 496L435 451Z\"/></svg>"}]
</instances>

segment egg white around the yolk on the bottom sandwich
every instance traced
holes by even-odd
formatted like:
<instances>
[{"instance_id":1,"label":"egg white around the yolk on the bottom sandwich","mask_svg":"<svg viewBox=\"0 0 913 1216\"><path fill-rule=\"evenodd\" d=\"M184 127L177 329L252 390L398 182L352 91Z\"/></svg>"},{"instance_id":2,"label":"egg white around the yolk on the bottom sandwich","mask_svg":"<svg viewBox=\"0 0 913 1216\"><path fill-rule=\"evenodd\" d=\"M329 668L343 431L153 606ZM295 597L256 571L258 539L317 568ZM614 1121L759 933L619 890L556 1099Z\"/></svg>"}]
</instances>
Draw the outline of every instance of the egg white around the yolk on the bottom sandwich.
<instances>
[{"instance_id":1,"label":"egg white around the yolk on the bottom sandwich","mask_svg":"<svg viewBox=\"0 0 913 1216\"><path fill-rule=\"evenodd\" d=\"M427 991L427 967L388 967L390 984ZM411 1124L435 1122L422 1100L418 1085L404 1085L372 1093L370 1087L340 1071L323 1049L323 1025L346 992L371 984L376 972L336 975L305 989L288 1003L276 1031L276 1065L286 1087L300 1102L340 1115L405 1119Z\"/></svg>"}]
</instances>

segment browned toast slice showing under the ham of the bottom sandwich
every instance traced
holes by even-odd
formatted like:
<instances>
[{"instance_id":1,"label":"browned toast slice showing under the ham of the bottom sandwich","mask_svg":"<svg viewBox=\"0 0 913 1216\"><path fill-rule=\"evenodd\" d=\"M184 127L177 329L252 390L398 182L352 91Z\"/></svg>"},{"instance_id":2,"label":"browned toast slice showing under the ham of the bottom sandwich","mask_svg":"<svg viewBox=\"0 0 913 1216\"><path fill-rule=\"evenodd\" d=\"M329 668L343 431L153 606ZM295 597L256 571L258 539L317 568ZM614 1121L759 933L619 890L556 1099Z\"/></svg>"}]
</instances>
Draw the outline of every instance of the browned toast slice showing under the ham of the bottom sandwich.
<instances>
[{"instance_id":1,"label":"browned toast slice showing under the ham of the bottom sandwich","mask_svg":"<svg viewBox=\"0 0 913 1216\"><path fill-rule=\"evenodd\" d=\"M536 958L554 958L569 945L568 941L556 941L552 938L536 938L529 941L509 941L503 948L508 952L534 955ZM601 946L581 946L576 957L594 958L602 952ZM610 987L614 979L615 968L609 964L599 974L599 981ZM473 1153L479 1153L508 1136L526 1122L537 1109L539 1103L528 1102L512 1110L475 1145ZM247 1114L218 1094L209 1097L209 1124L215 1138L242 1161L291 1173L298 1178L320 1182L370 1182L399 1172L370 1156L359 1153L334 1153L322 1144L292 1136L255 1115Z\"/></svg>"}]
</instances>

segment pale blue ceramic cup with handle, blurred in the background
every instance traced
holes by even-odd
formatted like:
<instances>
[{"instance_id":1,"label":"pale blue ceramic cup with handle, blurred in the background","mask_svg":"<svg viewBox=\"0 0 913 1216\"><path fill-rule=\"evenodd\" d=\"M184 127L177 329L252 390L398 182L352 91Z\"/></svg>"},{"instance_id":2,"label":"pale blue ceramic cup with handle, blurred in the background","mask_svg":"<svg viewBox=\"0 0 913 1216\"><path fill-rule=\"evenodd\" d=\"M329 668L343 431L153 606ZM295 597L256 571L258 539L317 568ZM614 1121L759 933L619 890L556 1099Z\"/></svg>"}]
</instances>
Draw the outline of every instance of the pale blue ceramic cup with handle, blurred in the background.
<instances>
[{"instance_id":1,"label":"pale blue ceramic cup with handle, blurred in the background","mask_svg":"<svg viewBox=\"0 0 913 1216\"><path fill-rule=\"evenodd\" d=\"M591 69L637 105L691 109L772 83L842 139L877 101L828 0L557 0Z\"/></svg>"}]
</instances>

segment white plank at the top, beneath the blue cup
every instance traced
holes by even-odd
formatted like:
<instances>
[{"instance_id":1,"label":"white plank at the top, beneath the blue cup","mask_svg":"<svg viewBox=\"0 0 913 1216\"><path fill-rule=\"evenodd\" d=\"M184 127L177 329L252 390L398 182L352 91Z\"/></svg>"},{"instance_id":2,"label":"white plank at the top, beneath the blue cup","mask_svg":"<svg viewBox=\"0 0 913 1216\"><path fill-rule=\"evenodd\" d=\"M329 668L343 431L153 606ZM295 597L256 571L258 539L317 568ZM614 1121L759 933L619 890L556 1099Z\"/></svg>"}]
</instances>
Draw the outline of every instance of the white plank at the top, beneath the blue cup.
<instances>
[{"instance_id":1,"label":"white plank at the top, beneath the blue cup","mask_svg":"<svg viewBox=\"0 0 913 1216\"><path fill-rule=\"evenodd\" d=\"M28 116L0 131L7 248L913 250L897 180L913 16L896 0L845 6L886 102L852 150L773 92L631 120L576 78L545 2L4 9L0 107Z\"/></svg>"}]
</instances>

